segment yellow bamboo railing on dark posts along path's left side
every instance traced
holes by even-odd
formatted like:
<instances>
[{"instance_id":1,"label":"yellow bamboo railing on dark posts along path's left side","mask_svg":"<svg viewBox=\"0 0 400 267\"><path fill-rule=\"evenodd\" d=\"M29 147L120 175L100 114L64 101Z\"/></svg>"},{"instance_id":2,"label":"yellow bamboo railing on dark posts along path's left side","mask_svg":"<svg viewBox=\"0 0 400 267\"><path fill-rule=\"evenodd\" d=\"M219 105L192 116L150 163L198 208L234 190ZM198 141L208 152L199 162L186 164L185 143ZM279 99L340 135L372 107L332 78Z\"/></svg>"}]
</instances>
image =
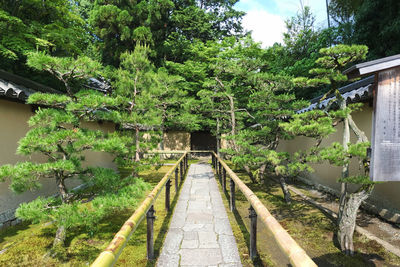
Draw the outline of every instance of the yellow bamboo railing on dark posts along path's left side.
<instances>
[{"instance_id":1,"label":"yellow bamboo railing on dark posts along path's left side","mask_svg":"<svg viewBox=\"0 0 400 267\"><path fill-rule=\"evenodd\" d=\"M142 204L135 210L133 215L124 223L119 232L114 236L114 239L109 243L107 248L102 253L100 253L97 259L92 263L92 267L113 266L145 215L147 217L147 258L154 259L153 222L155 217L153 204L156 201L158 195L161 193L162 189L166 187L165 208L169 210L169 190L171 186L170 175L175 171L175 190L176 192L178 192L178 168L180 169L180 176L182 181L188 167L188 152L182 152L182 157L180 157L175 165L168 170L161 181L154 187L154 189L150 192L150 194L147 195Z\"/></svg>"}]
</instances>

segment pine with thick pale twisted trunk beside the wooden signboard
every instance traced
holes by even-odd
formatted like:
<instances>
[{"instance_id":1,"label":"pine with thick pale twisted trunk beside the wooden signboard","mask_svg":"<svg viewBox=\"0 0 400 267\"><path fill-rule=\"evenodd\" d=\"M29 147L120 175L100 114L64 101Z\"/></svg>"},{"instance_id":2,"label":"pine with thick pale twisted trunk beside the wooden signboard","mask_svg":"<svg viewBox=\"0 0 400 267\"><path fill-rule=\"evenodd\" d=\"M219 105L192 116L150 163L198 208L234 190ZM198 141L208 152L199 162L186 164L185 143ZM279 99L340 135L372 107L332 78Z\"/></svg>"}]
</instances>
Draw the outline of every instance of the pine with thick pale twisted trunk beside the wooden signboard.
<instances>
[{"instance_id":1,"label":"pine with thick pale twisted trunk beside the wooden signboard","mask_svg":"<svg viewBox=\"0 0 400 267\"><path fill-rule=\"evenodd\" d=\"M341 71L350 63L365 59L368 48L363 45L337 45L330 48L321 49L323 55L317 60L320 68L311 70L315 75L313 79L298 78L296 81L303 83L304 86L314 86L320 84L329 84L331 89L321 98L321 101L330 95L335 98L330 101L327 110L332 107L337 110L327 112L320 111L320 117L326 117L331 120L325 121L323 127L333 127L339 123L343 123L343 142L342 144L333 143L329 147L321 148L314 151L314 155L310 158L313 161L326 160L335 166L342 167L342 175L339 179L341 183L341 195L339 200L338 213L338 241L341 249L346 254L353 254L353 234L356 223L357 211L362 203L366 200L373 188L374 183L369 179L369 162L367 159L367 147L370 146L364 132L362 132L353 121L351 112L360 108L359 104L348 106L339 90L338 84L347 81L347 77ZM322 112L322 113L321 113ZM299 120L300 119L300 120ZM294 125L300 126L301 117L298 116L292 121ZM304 126L307 127L307 126ZM357 143L350 143L350 129L357 137ZM320 141L318 142L320 143ZM359 175L349 175L349 163L351 158L359 159L361 173ZM358 189L350 193L348 184L359 185Z\"/></svg>"}]
</instances>

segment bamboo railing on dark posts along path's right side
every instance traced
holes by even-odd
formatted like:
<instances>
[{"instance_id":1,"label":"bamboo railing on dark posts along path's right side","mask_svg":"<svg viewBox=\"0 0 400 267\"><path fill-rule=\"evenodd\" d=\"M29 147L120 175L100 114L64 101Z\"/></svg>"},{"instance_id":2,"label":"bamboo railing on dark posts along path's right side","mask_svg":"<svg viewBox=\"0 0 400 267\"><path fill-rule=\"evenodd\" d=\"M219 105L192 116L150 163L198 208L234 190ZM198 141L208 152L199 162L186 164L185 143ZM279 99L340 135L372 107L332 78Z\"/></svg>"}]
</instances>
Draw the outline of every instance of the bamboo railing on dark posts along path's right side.
<instances>
[{"instance_id":1,"label":"bamboo railing on dark posts along path's right side","mask_svg":"<svg viewBox=\"0 0 400 267\"><path fill-rule=\"evenodd\" d=\"M258 197L246 186L245 183L229 168L229 166L215 153L211 152L212 164L226 192L226 175L231 178L230 183L230 208L235 210L235 185L250 202L250 257L257 254L257 217L271 233L280 250L288 257L290 263L296 267L317 266L297 242L286 232L279 222L271 215Z\"/></svg>"}]
</instances>

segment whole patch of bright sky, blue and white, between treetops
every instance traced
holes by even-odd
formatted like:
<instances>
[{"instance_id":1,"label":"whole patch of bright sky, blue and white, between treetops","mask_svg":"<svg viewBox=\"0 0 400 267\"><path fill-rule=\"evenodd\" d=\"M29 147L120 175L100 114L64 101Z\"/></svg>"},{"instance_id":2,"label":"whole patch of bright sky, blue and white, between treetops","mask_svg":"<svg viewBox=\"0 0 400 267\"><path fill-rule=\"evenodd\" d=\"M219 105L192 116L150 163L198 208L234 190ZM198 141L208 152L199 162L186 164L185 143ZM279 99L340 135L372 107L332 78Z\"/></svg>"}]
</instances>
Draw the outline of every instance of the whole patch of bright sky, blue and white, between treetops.
<instances>
[{"instance_id":1,"label":"whole patch of bright sky, blue and white, between treetops","mask_svg":"<svg viewBox=\"0 0 400 267\"><path fill-rule=\"evenodd\" d=\"M316 26L327 24L325 0L302 0L311 7L316 16ZM240 0L236 9L245 11L243 27L252 31L253 39L263 47L282 42L285 20L295 16L300 9L300 0Z\"/></svg>"}]
</instances>

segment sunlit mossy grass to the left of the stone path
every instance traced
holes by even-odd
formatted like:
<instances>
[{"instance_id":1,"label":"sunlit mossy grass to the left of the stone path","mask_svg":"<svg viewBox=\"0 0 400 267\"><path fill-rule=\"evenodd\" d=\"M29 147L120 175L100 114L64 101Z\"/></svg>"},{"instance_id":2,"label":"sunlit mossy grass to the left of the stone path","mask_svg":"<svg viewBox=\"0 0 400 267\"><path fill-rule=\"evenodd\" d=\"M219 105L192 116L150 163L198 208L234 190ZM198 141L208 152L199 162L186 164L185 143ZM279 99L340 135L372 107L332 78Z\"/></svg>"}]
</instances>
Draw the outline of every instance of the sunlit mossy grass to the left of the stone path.
<instances>
[{"instance_id":1,"label":"sunlit mossy grass to the left of the stone path","mask_svg":"<svg viewBox=\"0 0 400 267\"><path fill-rule=\"evenodd\" d=\"M153 188L171 166L140 173L140 177ZM172 175L172 178L174 176ZM155 253L158 256L168 230L172 210L176 203L174 180L171 183L171 211L165 211L165 190L155 202L157 219L154 222ZM147 192L148 193L148 192ZM145 194L145 196L147 195ZM142 200L138 202L138 205ZM0 231L0 266L88 266L107 247L115 233L134 212L134 207L116 212L99 222L97 231L84 229L69 231L66 248L57 258L48 257L56 227L53 225L22 223ZM142 221L119 257L117 266L154 266L146 257L146 222Z\"/></svg>"}]
</instances>

